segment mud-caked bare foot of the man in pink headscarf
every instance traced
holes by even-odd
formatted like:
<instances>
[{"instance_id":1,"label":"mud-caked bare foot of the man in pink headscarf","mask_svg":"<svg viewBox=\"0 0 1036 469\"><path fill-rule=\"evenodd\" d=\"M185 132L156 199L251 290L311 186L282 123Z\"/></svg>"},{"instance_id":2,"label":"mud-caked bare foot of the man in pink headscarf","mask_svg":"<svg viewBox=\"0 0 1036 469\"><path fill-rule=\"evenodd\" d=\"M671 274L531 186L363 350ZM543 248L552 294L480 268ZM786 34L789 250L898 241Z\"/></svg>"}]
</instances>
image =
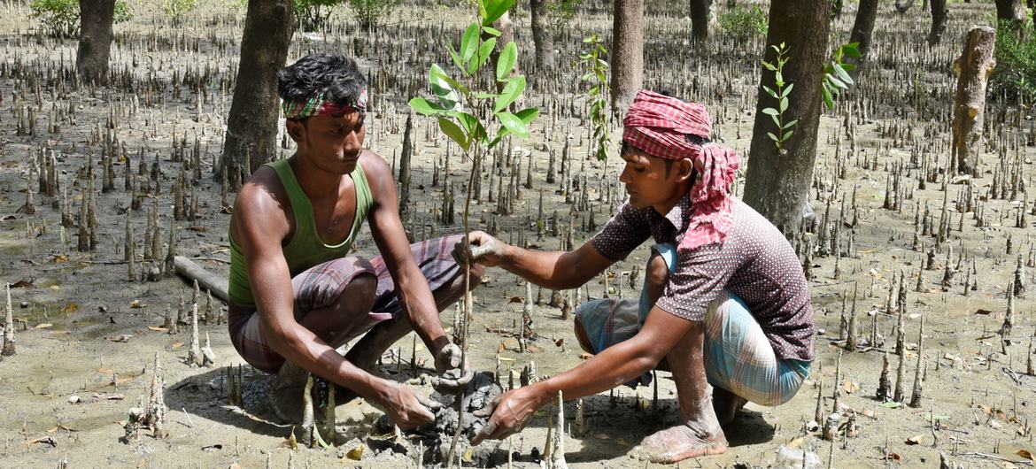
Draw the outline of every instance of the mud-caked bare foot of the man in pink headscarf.
<instances>
[{"instance_id":1,"label":"mud-caked bare foot of the man in pink headscarf","mask_svg":"<svg viewBox=\"0 0 1036 469\"><path fill-rule=\"evenodd\" d=\"M691 420L644 438L640 458L656 464L672 464L688 458L726 452L726 437L718 422Z\"/></svg>"}]
</instances>

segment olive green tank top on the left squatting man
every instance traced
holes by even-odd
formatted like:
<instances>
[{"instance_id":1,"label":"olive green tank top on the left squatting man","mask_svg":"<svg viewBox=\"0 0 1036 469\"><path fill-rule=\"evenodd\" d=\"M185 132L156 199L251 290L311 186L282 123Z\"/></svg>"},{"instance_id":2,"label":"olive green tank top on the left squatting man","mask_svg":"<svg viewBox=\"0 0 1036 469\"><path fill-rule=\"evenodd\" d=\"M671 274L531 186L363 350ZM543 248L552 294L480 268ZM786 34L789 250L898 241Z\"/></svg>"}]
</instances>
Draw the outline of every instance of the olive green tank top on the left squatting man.
<instances>
[{"instance_id":1,"label":"olive green tank top on the left squatting man","mask_svg":"<svg viewBox=\"0 0 1036 469\"><path fill-rule=\"evenodd\" d=\"M295 215L295 232L291 236L291 241L283 247L284 259L288 261L288 270L291 272L291 276L294 277L314 265L348 255L349 248L352 247L352 241L363 227L364 219L367 218L367 213L373 204L371 188L367 184L367 175L364 174L363 167L357 164L356 169L349 174L356 186L356 215L352 222L352 229L349 230L349 236L345 238L345 241L332 245L320 239L313 221L313 205L306 197L306 193L303 192L303 187L298 185L298 180L295 179L295 173L291 171L288 160L281 159L263 166L268 166L277 172L281 184L284 185L284 190L288 193L288 202ZM228 287L230 300L241 306L255 306L252 285L249 283L249 274L244 269L244 255L229 232L227 238L230 239Z\"/></svg>"}]
</instances>

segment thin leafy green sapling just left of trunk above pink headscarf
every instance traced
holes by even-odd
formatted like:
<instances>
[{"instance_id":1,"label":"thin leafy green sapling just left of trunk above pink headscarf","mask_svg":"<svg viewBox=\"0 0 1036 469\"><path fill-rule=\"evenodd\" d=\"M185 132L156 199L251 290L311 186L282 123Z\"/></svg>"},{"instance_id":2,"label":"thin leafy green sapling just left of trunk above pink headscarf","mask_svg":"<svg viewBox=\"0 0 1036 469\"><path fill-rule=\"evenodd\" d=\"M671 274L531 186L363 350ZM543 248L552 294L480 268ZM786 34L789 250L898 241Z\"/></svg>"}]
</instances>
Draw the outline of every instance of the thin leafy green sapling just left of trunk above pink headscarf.
<instances>
[{"instance_id":1,"label":"thin leafy green sapling just left of trunk above pink headscarf","mask_svg":"<svg viewBox=\"0 0 1036 469\"><path fill-rule=\"evenodd\" d=\"M583 38L586 49L579 54L582 64L582 81L591 87L586 90L589 101L589 118L594 125L594 154L603 162L608 158L608 145L611 136L608 130L608 61L604 59L608 50L604 48L597 34Z\"/></svg>"}]
</instances>

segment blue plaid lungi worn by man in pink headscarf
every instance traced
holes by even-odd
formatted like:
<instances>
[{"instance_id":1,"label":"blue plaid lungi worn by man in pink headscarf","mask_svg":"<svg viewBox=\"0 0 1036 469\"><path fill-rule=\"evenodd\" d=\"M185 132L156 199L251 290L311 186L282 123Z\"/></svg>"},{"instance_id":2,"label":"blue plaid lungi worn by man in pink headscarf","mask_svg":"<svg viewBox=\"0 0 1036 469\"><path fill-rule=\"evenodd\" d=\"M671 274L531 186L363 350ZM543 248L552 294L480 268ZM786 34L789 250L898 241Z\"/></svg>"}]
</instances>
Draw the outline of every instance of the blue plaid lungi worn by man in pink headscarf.
<instances>
[{"instance_id":1,"label":"blue plaid lungi worn by man in pink headscarf","mask_svg":"<svg viewBox=\"0 0 1036 469\"><path fill-rule=\"evenodd\" d=\"M653 247L675 265L675 250ZM603 298L586 301L576 316L596 353L635 335L651 311L645 297ZM709 384L748 401L777 406L790 400L808 376L810 362L777 358L759 323L744 301L724 290L706 313L704 365ZM646 384L642 376L629 385Z\"/></svg>"}]
</instances>

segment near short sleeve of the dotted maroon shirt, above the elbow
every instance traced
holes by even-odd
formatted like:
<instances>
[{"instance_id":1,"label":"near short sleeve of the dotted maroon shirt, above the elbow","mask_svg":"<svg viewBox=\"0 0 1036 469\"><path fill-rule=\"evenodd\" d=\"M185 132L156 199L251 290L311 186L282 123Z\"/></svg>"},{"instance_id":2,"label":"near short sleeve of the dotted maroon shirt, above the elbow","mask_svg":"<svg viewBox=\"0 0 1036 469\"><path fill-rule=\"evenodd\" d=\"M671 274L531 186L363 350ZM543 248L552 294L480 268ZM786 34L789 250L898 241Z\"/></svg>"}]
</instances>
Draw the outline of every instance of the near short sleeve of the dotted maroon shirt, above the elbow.
<instances>
[{"instance_id":1,"label":"near short sleeve of the dotted maroon shirt, above the elbow","mask_svg":"<svg viewBox=\"0 0 1036 469\"><path fill-rule=\"evenodd\" d=\"M677 269L655 305L689 321L704 320L709 303L723 291L739 262L732 247L724 250L723 243L679 253Z\"/></svg>"}]
</instances>

